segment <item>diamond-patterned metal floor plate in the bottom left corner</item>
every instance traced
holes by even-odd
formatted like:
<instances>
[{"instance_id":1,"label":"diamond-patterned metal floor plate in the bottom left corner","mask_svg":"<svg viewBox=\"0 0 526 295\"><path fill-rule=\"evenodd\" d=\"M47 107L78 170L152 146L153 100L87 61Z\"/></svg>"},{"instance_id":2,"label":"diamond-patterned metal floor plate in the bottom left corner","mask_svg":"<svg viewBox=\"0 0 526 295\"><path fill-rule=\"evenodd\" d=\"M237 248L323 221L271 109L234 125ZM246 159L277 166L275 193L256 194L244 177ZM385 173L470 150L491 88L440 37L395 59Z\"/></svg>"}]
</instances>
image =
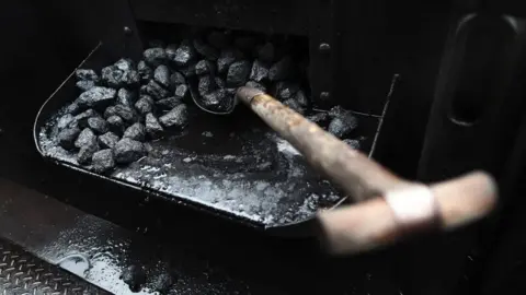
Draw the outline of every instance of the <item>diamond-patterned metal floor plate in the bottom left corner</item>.
<instances>
[{"instance_id":1,"label":"diamond-patterned metal floor plate in the bottom left corner","mask_svg":"<svg viewBox=\"0 0 526 295\"><path fill-rule=\"evenodd\" d=\"M110 294L0 239L1 295Z\"/></svg>"}]
</instances>

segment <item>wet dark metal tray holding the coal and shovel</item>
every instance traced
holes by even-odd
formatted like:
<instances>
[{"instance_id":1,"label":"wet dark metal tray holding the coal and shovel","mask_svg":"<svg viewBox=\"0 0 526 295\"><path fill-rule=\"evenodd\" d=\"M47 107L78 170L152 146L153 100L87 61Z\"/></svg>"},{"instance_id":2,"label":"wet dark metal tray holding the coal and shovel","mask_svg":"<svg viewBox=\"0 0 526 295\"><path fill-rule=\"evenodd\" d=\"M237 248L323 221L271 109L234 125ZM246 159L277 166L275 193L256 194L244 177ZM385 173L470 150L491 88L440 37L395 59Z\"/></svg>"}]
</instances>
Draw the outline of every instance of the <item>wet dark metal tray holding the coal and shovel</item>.
<instances>
[{"instance_id":1,"label":"wet dark metal tray holding the coal and shovel","mask_svg":"<svg viewBox=\"0 0 526 295\"><path fill-rule=\"evenodd\" d=\"M78 68L100 71L114 62L107 59L104 46L99 44ZM34 125L38 152L56 165L141 191L148 198L190 205L286 236L310 232L317 210L331 209L346 200L288 142L244 107L231 116L213 116L188 106L192 119L187 130L149 143L149 155L136 163L107 175L94 174L89 167L79 166L76 154L53 140L65 106L79 95L75 83L73 70L44 103ZM369 156L389 96L381 116L356 114L356 137L365 137L362 149Z\"/></svg>"}]
</instances>

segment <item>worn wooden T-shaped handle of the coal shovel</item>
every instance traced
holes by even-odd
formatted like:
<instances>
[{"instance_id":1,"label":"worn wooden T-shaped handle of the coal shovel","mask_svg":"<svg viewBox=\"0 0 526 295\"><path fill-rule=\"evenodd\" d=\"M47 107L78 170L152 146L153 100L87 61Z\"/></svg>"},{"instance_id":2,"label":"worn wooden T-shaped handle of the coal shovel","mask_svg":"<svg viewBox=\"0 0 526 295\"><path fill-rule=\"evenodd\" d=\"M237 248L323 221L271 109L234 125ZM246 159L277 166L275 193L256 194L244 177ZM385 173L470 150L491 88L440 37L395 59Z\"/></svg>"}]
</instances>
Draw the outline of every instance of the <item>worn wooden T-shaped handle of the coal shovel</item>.
<instances>
[{"instance_id":1,"label":"worn wooden T-shaped handle of the coal shovel","mask_svg":"<svg viewBox=\"0 0 526 295\"><path fill-rule=\"evenodd\" d=\"M485 173L432 187L408 181L259 90L240 87L237 97L358 202L319 213L332 252L363 251L409 234L455 228L495 205L496 185Z\"/></svg>"}]
</instances>

